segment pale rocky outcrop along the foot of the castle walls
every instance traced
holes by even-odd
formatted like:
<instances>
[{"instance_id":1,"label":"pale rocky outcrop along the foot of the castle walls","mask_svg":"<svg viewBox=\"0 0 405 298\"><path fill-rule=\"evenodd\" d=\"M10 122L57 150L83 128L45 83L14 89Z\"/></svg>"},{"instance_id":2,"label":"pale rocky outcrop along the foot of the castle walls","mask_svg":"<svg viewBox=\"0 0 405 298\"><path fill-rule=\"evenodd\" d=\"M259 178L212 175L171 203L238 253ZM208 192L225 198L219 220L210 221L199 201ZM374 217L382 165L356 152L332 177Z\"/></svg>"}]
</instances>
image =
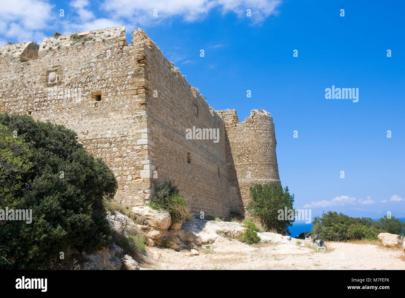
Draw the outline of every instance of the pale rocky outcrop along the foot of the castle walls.
<instances>
[{"instance_id":1,"label":"pale rocky outcrop along the foot of the castle walls","mask_svg":"<svg viewBox=\"0 0 405 298\"><path fill-rule=\"evenodd\" d=\"M251 246L236 240L246 230L238 222L195 219L194 222L184 222L174 227L169 213L157 211L148 206L133 207L131 217L133 220L121 213L116 213L108 216L107 219L111 227L117 232L125 234L130 229L143 232L149 246L162 245L163 239L166 239L177 244L180 250L195 249L201 246L210 247L210 249L215 249L218 252L254 250ZM262 243L279 245L295 244L297 241L290 236L273 232L258 232L257 235ZM196 251L192 250L186 255L196 256L195 253Z\"/></svg>"}]
</instances>

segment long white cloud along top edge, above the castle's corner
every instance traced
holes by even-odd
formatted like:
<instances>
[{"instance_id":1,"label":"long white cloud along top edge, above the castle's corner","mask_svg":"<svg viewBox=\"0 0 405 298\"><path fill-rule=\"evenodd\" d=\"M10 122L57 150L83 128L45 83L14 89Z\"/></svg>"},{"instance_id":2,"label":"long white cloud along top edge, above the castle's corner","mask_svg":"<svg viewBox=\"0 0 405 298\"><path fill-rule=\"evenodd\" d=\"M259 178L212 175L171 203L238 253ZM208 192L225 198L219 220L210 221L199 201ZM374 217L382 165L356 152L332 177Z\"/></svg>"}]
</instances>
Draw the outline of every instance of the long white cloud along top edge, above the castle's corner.
<instances>
[{"instance_id":1,"label":"long white cloud along top edge, above the castle's corner","mask_svg":"<svg viewBox=\"0 0 405 298\"><path fill-rule=\"evenodd\" d=\"M252 23L260 23L266 17L276 15L280 4L281 0L104 0L102 6L116 17L145 25L169 17L183 17L185 21L193 22L203 19L214 8L239 17L246 17L249 8L252 11L249 19ZM154 10L157 10L157 17L153 16Z\"/></svg>"}]
</instances>

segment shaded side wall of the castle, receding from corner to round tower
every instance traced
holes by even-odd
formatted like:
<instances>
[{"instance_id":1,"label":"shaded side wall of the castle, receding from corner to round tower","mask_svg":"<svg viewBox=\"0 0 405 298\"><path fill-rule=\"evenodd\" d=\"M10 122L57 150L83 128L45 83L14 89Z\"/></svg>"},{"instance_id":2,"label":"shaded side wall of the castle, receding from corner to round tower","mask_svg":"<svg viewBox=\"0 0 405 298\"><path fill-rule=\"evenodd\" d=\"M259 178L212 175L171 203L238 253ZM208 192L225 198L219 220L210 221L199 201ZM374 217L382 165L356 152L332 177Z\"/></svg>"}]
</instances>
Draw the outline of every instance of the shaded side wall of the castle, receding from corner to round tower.
<instances>
[{"instance_id":1,"label":"shaded side wall of the castle, receding from corner to round tower","mask_svg":"<svg viewBox=\"0 0 405 298\"><path fill-rule=\"evenodd\" d=\"M227 217L223 120L140 29L132 33L132 43L135 42L145 42L148 47L145 63L150 165L145 166L145 175L152 177L154 185L172 180L194 213L203 211L206 217ZM193 126L219 129L219 142L186 139L186 129ZM157 178L153 178L154 173Z\"/></svg>"}]
</instances>

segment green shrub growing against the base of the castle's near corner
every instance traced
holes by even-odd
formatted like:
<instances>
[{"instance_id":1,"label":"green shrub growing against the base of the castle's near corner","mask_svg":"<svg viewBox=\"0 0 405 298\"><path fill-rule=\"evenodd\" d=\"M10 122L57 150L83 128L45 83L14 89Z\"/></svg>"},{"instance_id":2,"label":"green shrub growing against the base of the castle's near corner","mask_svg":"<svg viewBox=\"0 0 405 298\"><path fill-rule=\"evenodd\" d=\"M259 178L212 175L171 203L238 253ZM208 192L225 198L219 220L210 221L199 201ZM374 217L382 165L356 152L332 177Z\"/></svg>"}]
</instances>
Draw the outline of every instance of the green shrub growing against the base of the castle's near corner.
<instances>
[{"instance_id":1,"label":"green shrub growing against the base of the castle's near corner","mask_svg":"<svg viewBox=\"0 0 405 298\"><path fill-rule=\"evenodd\" d=\"M155 210L167 211L173 222L194 220L194 214L188 209L184 198L177 193L177 188L171 182L159 184L152 193L151 202L147 205Z\"/></svg>"}]
</instances>

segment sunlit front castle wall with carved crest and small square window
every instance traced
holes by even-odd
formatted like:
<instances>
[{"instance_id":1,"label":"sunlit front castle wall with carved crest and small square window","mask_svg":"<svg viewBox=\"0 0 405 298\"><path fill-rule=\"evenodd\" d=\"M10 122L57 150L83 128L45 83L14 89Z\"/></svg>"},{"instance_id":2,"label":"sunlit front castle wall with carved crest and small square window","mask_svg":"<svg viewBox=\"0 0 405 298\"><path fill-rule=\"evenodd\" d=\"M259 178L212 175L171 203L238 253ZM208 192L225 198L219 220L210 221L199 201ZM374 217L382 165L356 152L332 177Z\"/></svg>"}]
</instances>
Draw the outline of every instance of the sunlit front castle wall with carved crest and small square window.
<instances>
[{"instance_id":1,"label":"sunlit front castle wall with carved crest and small square window","mask_svg":"<svg viewBox=\"0 0 405 298\"><path fill-rule=\"evenodd\" d=\"M78 36L45 38L38 55L33 42L1 46L0 109L76 131L114 171L115 199L143 205L150 189L140 177L148 148L138 144L147 129L143 44L127 44L125 27Z\"/></svg>"}]
</instances>

